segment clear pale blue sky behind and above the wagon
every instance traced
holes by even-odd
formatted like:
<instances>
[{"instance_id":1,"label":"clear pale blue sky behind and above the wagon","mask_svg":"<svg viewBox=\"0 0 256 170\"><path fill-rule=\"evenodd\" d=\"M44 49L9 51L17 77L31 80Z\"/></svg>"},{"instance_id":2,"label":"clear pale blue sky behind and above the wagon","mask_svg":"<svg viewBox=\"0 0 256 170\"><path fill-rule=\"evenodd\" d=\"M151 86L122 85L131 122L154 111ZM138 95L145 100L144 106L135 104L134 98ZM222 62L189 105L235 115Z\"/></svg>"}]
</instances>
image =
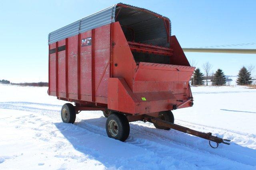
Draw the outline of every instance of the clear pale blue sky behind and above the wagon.
<instances>
[{"instance_id":1,"label":"clear pale blue sky behind and above the wagon","mask_svg":"<svg viewBox=\"0 0 256 170\"><path fill-rule=\"evenodd\" d=\"M24 0L0 5L0 79L11 82L48 81L48 33L102 10L115 0ZM256 43L254 0L122 1L162 14L172 22L172 35L182 47ZM230 48L251 48L256 45ZM196 66L209 61L216 70L236 75L256 55L186 53Z\"/></svg>"}]
</instances>

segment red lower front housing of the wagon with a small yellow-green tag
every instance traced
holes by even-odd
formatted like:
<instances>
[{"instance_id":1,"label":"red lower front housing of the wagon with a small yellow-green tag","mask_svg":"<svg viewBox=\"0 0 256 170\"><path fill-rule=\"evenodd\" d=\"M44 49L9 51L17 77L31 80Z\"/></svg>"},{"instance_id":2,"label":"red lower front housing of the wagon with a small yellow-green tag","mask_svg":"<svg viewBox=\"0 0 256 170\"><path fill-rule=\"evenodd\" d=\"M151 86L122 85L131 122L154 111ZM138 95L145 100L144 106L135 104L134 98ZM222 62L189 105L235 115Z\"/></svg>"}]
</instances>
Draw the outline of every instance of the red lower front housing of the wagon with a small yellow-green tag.
<instances>
[{"instance_id":1,"label":"red lower front housing of the wagon with a small yellow-green tag","mask_svg":"<svg viewBox=\"0 0 256 170\"><path fill-rule=\"evenodd\" d=\"M124 78L109 78L109 109L130 114L146 114L173 109L172 104L176 104L176 98L170 91L133 93Z\"/></svg>"}]
</instances>

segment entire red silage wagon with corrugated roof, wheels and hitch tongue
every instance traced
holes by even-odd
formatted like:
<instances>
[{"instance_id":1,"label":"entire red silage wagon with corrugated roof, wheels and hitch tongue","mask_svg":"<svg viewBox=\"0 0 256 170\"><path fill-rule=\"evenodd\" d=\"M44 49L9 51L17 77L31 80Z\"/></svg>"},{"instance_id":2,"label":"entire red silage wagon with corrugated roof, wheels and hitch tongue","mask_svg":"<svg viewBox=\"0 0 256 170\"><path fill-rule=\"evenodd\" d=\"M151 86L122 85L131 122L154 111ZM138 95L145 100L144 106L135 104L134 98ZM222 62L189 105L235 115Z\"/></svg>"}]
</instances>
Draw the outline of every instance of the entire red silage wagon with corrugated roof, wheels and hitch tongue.
<instances>
[{"instance_id":1,"label":"entire red silage wagon with corrugated roof, wheels and hitch tongue","mask_svg":"<svg viewBox=\"0 0 256 170\"><path fill-rule=\"evenodd\" d=\"M210 141L222 139L174 124L171 110L193 105L194 72L170 20L144 8L116 4L48 36L48 94L74 102L62 107L65 123L82 110L102 110L109 137L125 141L129 122L149 121Z\"/></svg>"}]
</instances>

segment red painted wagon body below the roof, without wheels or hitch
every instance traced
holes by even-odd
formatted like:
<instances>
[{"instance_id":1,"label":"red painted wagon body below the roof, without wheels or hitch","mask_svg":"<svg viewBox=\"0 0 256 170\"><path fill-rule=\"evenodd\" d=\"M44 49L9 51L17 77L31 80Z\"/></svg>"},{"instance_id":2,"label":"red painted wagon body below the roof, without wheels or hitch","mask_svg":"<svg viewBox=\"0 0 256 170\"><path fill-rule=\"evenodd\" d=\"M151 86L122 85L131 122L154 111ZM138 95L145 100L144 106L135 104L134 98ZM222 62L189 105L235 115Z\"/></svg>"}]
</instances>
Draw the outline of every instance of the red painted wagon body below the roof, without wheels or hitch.
<instances>
[{"instance_id":1,"label":"red painted wagon body below the roof, without wheels or hitch","mask_svg":"<svg viewBox=\"0 0 256 170\"><path fill-rule=\"evenodd\" d=\"M87 38L91 44L82 47ZM49 50L55 47L56 54L49 55L49 95L79 103L83 110L100 106L130 115L190 107L188 81L194 67L176 37L169 39L172 48L129 42L115 22L50 44ZM58 52L62 45L66 51ZM171 62L136 63L132 51L169 56Z\"/></svg>"}]
</instances>

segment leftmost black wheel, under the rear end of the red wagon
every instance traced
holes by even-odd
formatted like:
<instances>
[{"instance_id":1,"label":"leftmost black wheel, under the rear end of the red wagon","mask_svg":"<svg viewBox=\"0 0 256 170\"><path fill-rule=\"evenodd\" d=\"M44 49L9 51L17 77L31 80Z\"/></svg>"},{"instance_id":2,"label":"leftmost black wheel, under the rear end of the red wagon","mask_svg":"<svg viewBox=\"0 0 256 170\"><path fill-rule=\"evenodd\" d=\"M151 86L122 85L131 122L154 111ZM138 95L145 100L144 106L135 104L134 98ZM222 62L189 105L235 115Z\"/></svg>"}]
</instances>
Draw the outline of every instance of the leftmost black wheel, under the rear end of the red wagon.
<instances>
[{"instance_id":1,"label":"leftmost black wheel, under the rear end of the red wagon","mask_svg":"<svg viewBox=\"0 0 256 170\"><path fill-rule=\"evenodd\" d=\"M66 117L63 117L63 111L64 109L66 110ZM66 103L62 106L61 108L61 119L64 123L74 123L76 120L76 110L75 107L70 104L70 103Z\"/></svg>"}]
</instances>

